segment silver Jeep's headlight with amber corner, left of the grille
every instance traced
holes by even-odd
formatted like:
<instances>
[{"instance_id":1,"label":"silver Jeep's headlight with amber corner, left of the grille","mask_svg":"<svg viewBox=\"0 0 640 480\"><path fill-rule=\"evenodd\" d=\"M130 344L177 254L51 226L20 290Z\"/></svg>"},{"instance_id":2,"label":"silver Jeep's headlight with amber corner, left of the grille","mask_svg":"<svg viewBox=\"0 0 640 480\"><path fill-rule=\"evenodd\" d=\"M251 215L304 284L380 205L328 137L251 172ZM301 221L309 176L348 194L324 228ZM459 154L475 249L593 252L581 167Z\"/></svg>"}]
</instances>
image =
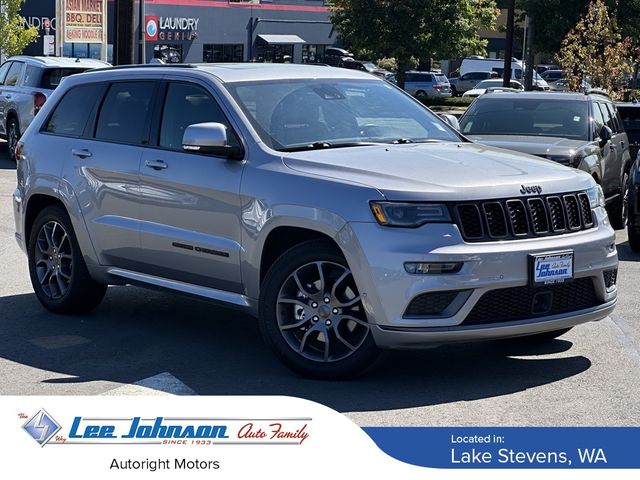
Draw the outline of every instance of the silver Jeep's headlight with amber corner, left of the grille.
<instances>
[{"instance_id":1,"label":"silver Jeep's headlight with amber corner, left of the grille","mask_svg":"<svg viewBox=\"0 0 640 480\"><path fill-rule=\"evenodd\" d=\"M371 202L370 206L378 223L389 227L451 222L449 209L441 203Z\"/></svg>"}]
</instances>

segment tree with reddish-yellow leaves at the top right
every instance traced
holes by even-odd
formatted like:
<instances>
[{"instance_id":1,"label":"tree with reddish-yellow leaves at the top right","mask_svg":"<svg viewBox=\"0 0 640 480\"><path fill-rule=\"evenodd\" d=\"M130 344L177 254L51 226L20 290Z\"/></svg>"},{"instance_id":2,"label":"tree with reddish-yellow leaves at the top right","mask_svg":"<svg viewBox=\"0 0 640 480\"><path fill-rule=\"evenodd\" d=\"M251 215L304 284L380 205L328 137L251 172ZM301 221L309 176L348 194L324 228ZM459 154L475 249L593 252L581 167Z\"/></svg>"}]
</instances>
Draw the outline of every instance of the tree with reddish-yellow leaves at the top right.
<instances>
[{"instance_id":1,"label":"tree with reddish-yellow leaves at the top right","mask_svg":"<svg viewBox=\"0 0 640 480\"><path fill-rule=\"evenodd\" d=\"M603 0L589 3L587 13L580 18L562 41L558 54L560 65L567 72L569 88L578 91L582 81L614 94L624 73L629 71L631 39L623 39L615 16Z\"/></svg>"}]
</instances>

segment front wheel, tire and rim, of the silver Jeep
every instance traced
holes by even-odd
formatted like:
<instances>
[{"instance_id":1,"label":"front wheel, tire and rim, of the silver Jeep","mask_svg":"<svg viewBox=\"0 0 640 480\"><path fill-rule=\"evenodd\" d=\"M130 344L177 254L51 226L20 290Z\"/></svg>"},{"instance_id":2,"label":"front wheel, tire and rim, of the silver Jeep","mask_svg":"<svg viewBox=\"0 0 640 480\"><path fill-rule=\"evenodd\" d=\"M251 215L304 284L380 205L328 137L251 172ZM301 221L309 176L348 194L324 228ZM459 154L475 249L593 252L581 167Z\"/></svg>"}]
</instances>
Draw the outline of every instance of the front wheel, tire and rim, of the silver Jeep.
<instances>
[{"instance_id":1,"label":"front wheel, tire and rim, of the silver Jeep","mask_svg":"<svg viewBox=\"0 0 640 480\"><path fill-rule=\"evenodd\" d=\"M381 354L351 270L327 241L301 243L274 262L260 292L260 329L276 356L306 377L352 377Z\"/></svg>"}]
</instances>

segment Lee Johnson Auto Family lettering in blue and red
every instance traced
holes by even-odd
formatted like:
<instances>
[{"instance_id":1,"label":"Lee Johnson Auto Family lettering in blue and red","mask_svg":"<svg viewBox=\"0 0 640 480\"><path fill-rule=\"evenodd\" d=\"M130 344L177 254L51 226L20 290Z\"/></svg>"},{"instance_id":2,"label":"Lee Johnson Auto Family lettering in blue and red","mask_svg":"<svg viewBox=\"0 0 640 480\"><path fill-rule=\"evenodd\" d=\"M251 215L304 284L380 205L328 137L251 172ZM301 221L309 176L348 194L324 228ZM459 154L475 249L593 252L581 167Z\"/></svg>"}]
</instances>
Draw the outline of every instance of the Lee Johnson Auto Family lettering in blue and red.
<instances>
[{"instance_id":1,"label":"Lee Johnson Auto Family lettering in blue and red","mask_svg":"<svg viewBox=\"0 0 640 480\"><path fill-rule=\"evenodd\" d=\"M75 417L67 435L48 443L64 444L281 444L301 445L311 418L88 418Z\"/></svg>"}]
</instances>

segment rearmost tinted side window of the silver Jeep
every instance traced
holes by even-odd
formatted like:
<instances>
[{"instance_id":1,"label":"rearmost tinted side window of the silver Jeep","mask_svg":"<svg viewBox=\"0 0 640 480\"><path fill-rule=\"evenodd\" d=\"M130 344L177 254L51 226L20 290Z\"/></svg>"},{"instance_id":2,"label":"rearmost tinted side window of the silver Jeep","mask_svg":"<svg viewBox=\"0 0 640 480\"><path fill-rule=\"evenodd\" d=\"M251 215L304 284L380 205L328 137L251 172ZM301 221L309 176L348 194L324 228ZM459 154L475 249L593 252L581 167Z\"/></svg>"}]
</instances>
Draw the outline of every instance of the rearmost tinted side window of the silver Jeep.
<instances>
[{"instance_id":1,"label":"rearmost tinted side window of the silver Jeep","mask_svg":"<svg viewBox=\"0 0 640 480\"><path fill-rule=\"evenodd\" d=\"M56 105L44 127L45 132L81 136L101 91L98 83L73 87Z\"/></svg>"}]
</instances>

